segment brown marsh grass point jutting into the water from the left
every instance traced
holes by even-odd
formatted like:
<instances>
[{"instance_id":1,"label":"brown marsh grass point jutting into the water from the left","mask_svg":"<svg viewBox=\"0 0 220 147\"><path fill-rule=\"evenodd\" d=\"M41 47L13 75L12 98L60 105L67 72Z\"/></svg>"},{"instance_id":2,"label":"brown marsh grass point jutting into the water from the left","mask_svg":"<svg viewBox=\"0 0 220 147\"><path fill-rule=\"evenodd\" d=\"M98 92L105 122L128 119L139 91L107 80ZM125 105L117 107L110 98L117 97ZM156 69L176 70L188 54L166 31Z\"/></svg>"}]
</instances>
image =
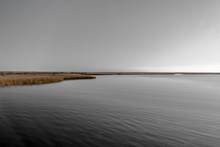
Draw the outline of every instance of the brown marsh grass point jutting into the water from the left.
<instances>
[{"instance_id":1,"label":"brown marsh grass point jutting into the water from the left","mask_svg":"<svg viewBox=\"0 0 220 147\"><path fill-rule=\"evenodd\" d=\"M62 82L65 80L95 79L95 78L96 77L93 75L69 74L69 73L0 74L0 87L19 86L19 85L41 85L41 84Z\"/></svg>"}]
</instances>

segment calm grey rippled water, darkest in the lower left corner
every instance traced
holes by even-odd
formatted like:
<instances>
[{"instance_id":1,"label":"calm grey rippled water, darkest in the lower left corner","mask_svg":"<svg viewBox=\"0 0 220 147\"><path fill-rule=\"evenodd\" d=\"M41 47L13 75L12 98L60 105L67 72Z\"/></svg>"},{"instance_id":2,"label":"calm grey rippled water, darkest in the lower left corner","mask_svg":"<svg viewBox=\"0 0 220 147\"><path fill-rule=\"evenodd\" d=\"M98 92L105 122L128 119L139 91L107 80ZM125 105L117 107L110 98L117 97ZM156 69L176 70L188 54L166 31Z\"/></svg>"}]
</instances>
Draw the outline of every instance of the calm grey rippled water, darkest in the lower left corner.
<instances>
[{"instance_id":1,"label":"calm grey rippled water, darkest in the lower left corner","mask_svg":"<svg viewBox=\"0 0 220 147\"><path fill-rule=\"evenodd\" d=\"M220 146L220 76L0 89L0 146Z\"/></svg>"}]
</instances>

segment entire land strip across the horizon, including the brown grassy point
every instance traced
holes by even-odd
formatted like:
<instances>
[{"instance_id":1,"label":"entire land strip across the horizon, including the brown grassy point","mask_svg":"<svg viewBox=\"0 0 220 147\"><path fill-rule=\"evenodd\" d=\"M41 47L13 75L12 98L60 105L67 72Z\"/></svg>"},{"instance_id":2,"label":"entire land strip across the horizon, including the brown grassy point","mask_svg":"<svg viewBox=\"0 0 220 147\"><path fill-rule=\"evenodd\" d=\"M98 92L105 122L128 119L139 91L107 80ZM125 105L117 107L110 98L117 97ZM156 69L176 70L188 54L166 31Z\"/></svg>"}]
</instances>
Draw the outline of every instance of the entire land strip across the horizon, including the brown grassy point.
<instances>
[{"instance_id":1,"label":"entire land strip across the horizon, including the brown grassy point","mask_svg":"<svg viewBox=\"0 0 220 147\"><path fill-rule=\"evenodd\" d=\"M17 85L41 85L65 80L95 79L101 75L220 75L213 72L26 72L1 71L0 87Z\"/></svg>"}]
</instances>

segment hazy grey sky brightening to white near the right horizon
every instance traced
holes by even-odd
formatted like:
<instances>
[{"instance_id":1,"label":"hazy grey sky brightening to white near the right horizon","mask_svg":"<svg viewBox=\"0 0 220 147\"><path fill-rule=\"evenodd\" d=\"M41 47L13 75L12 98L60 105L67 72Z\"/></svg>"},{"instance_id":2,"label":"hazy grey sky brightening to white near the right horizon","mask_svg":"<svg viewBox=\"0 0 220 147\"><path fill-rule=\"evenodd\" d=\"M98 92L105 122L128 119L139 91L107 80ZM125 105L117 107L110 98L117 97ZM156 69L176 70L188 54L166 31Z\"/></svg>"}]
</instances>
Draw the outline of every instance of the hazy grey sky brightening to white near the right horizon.
<instances>
[{"instance_id":1,"label":"hazy grey sky brightening to white near the right horizon","mask_svg":"<svg viewBox=\"0 0 220 147\"><path fill-rule=\"evenodd\" d=\"M0 0L0 70L220 72L220 1Z\"/></svg>"}]
</instances>

